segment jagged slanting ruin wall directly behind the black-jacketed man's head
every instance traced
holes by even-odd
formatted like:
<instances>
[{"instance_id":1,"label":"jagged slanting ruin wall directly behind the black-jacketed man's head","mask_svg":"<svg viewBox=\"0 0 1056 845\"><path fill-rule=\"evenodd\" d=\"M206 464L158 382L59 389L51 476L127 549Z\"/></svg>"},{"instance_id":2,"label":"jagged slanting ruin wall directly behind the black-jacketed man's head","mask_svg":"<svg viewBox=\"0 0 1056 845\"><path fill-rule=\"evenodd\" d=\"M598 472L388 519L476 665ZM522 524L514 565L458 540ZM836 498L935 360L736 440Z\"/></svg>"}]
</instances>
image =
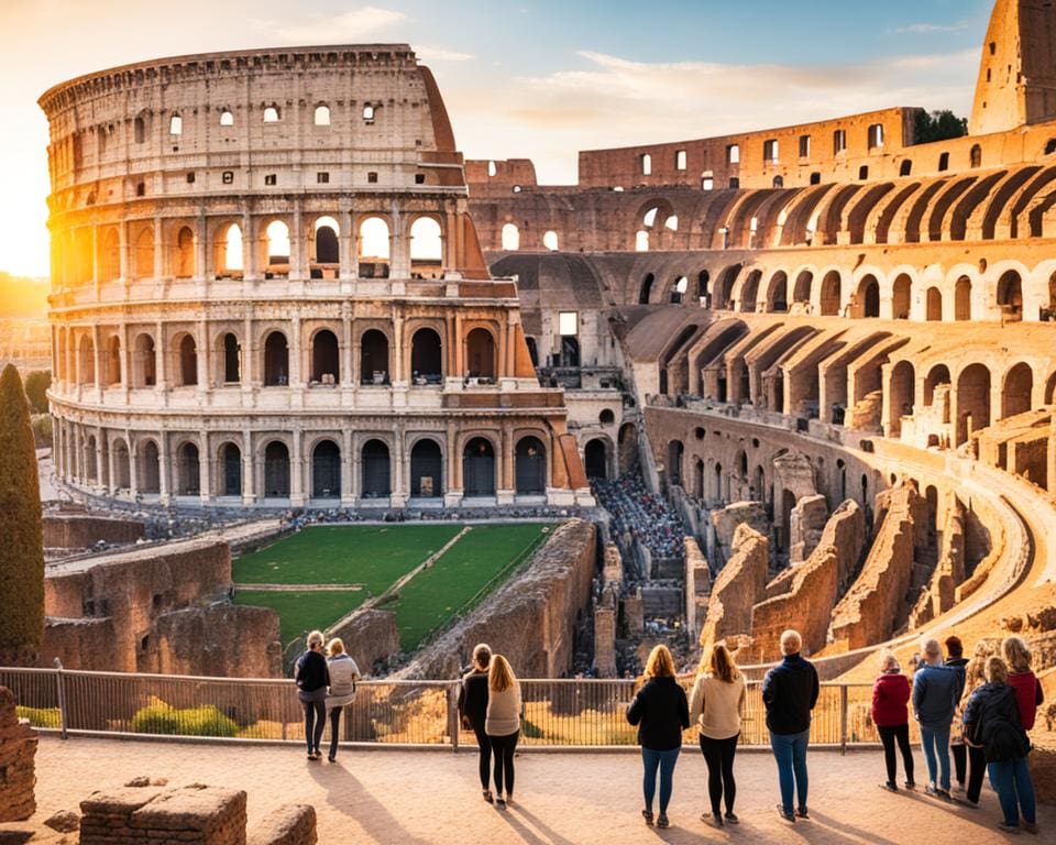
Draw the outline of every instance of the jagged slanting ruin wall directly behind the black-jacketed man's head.
<instances>
[{"instance_id":1,"label":"jagged slanting ruin wall directly behind the black-jacketed man's head","mask_svg":"<svg viewBox=\"0 0 1056 845\"><path fill-rule=\"evenodd\" d=\"M839 597L840 575L858 562L865 539L865 516L848 500L836 508L811 557L779 577L783 589L752 608L751 656L756 662L780 658L781 632L787 628L800 632L807 654L825 646L829 618ZM768 595L771 585L767 588Z\"/></svg>"}]
</instances>

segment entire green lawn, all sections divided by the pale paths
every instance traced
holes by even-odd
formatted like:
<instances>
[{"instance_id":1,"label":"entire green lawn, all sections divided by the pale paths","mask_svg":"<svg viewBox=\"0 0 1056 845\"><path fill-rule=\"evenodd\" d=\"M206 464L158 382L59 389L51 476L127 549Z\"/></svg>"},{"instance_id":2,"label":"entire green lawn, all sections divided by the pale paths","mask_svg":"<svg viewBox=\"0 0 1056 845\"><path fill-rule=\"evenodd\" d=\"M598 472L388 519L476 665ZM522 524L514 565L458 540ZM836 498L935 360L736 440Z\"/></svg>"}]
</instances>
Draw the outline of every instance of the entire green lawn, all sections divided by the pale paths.
<instances>
[{"instance_id":1,"label":"entire green lawn, all sections divided by the pale paths","mask_svg":"<svg viewBox=\"0 0 1056 845\"><path fill-rule=\"evenodd\" d=\"M278 612L283 644L312 628L326 629L439 551L463 526L327 526L300 534L233 562L238 604ZM413 578L385 610L395 611L400 648L416 649L461 613L492 579L524 557L553 525L477 525L430 569ZM252 584L363 584L363 590L270 592Z\"/></svg>"}]
</instances>

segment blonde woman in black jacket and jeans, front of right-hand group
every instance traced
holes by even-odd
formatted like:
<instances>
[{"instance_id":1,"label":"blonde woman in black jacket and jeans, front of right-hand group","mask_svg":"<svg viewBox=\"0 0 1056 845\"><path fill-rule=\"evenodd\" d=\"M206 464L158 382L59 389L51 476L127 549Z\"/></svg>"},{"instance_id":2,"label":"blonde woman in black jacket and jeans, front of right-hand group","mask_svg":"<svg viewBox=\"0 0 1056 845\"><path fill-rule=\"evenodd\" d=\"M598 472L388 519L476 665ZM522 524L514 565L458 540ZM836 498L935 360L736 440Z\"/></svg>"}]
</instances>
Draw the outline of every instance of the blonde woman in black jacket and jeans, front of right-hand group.
<instances>
[{"instance_id":1,"label":"blonde woman in black jacket and jeans, front of right-hand group","mask_svg":"<svg viewBox=\"0 0 1056 845\"><path fill-rule=\"evenodd\" d=\"M1009 685L1009 668L1000 657L987 658L987 682L977 688L965 707L965 735L982 746L990 782L998 791L1004 819L998 825L1007 833L1022 828L1037 833L1034 784L1026 764L1031 740L1020 722L1015 689ZM1020 824L1020 815L1023 824Z\"/></svg>"}]
</instances>

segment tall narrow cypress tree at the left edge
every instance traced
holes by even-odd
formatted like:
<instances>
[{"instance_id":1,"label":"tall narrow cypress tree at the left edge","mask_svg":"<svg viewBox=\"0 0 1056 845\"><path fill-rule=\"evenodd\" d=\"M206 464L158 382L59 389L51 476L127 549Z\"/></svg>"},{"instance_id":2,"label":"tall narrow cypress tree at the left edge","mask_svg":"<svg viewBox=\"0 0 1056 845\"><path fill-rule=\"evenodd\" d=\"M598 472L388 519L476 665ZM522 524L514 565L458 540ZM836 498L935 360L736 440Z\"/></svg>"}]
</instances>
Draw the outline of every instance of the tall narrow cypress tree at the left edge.
<instances>
[{"instance_id":1,"label":"tall narrow cypress tree at the left edge","mask_svg":"<svg viewBox=\"0 0 1056 845\"><path fill-rule=\"evenodd\" d=\"M44 533L30 405L13 364L0 375L0 666L37 661L44 635Z\"/></svg>"}]
</instances>

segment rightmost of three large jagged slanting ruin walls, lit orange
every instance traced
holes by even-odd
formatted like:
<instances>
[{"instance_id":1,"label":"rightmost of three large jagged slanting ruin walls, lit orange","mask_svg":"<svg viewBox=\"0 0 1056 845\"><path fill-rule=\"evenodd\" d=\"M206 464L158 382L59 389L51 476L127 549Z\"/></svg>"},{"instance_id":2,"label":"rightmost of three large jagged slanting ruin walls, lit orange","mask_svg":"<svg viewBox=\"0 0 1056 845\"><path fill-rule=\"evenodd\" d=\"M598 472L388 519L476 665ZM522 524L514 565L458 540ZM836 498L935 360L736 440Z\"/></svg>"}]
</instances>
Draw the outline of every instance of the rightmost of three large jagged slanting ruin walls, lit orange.
<instances>
[{"instance_id":1,"label":"rightmost of three large jagged slanting ruin walls, lit orange","mask_svg":"<svg viewBox=\"0 0 1056 845\"><path fill-rule=\"evenodd\" d=\"M877 518L882 523L872 549L861 574L833 611L828 638L839 648L880 643L905 619L922 504L926 508L916 486L908 482L877 497ZM926 530L926 518L924 523Z\"/></svg>"}]
</instances>

